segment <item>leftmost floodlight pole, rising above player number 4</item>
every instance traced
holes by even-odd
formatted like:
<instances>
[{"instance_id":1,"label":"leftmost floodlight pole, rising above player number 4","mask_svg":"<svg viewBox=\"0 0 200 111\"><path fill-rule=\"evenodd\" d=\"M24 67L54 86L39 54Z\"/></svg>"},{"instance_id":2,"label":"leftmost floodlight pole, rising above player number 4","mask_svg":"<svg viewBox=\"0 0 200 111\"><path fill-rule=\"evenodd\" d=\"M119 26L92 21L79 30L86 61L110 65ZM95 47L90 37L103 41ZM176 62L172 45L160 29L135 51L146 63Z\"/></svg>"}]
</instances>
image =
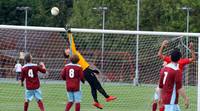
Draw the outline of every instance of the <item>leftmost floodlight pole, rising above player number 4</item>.
<instances>
[{"instance_id":1,"label":"leftmost floodlight pole, rising above player number 4","mask_svg":"<svg viewBox=\"0 0 200 111\"><path fill-rule=\"evenodd\" d=\"M28 24L28 10L30 10L30 7L16 7L17 10L25 11L25 19L24 19L24 25L27 26ZM24 31L24 52L27 52L27 30Z\"/></svg>"}]
</instances>

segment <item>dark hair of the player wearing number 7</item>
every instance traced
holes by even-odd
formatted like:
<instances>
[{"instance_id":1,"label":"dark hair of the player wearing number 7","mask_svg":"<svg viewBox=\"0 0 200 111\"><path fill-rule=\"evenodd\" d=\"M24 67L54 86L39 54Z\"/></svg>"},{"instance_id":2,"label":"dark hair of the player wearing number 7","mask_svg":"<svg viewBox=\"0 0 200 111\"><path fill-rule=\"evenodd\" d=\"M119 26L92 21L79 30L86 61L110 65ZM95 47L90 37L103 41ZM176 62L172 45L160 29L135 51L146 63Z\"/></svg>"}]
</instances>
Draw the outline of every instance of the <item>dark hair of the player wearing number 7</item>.
<instances>
[{"instance_id":1,"label":"dark hair of the player wearing number 7","mask_svg":"<svg viewBox=\"0 0 200 111\"><path fill-rule=\"evenodd\" d=\"M171 52L171 60L172 62L178 62L179 59L181 58L181 52L179 49L175 48L172 52Z\"/></svg>"}]
</instances>

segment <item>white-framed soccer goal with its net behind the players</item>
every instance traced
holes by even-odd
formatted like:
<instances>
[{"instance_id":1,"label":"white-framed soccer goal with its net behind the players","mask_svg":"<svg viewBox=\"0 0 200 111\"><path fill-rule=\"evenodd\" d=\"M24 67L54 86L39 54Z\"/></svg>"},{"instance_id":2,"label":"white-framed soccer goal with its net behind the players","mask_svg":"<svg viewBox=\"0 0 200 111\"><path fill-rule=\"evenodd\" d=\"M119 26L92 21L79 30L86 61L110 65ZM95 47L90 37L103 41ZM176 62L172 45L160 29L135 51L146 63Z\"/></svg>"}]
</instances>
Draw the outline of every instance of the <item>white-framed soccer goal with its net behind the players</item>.
<instances>
[{"instance_id":1,"label":"white-framed soccer goal with its net behind the players","mask_svg":"<svg viewBox=\"0 0 200 111\"><path fill-rule=\"evenodd\" d=\"M2 73L1 71L6 70L5 72L7 74L7 76L0 75L2 82L6 82L6 84L2 84L2 87L9 86L17 88L17 86L10 86L10 84L7 83L10 81L13 83L12 79L14 78L14 74L11 73L12 66L14 64L13 58L16 58L20 52L25 52L23 35L24 30L27 30L27 51L33 54L36 53L33 55L34 61L44 61L49 72L49 76L45 79L45 83L47 83L47 85L43 85L42 90L44 88L44 98L51 97L52 99L47 98L45 106L56 108L57 106L64 106L63 103L62 105L60 103L60 101L63 102L64 98L59 98L59 95L56 95L56 90L53 90L54 88L64 88L57 85L64 85L59 78L60 70L64 64L62 52L66 47L66 30L64 28L0 25L0 59L6 61L6 65L2 65L3 62L1 62L0 73ZM119 107L123 108L120 109L122 111L150 110L149 108L151 107L149 104L151 104L154 87L158 81L159 68L162 67L162 61L157 57L157 51L164 39L168 39L170 42L169 47L163 51L164 54L169 54L169 51L174 47L179 47L185 57L185 55L187 55L187 48L184 48L185 44L183 43L185 41L182 40L182 38L187 36L189 37L189 41L194 42L195 51L198 53L200 52L200 33L80 28L71 28L71 32L74 35L77 49L86 58L90 65L97 69L103 68L103 74L99 77L99 79L105 83L103 84L103 87L106 87L105 89L109 94L111 93L119 97L119 100L116 102L114 101L112 104L103 102L103 104L108 104L108 111L119 110ZM104 34L104 39L102 39L102 34ZM139 44L136 42L136 35L140 35L138 38ZM103 54L102 43L104 43ZM136 47L139 48L138 64L136 64ZM198 60L195 61L194 64L189 65L188 71L191 76L189 75L188 77L189 81L187 84L189 87L186 87L186 90L189 94L192 94L194 99L192 101L192 107L194 108L191 110L199 111L200 54L198 54L197 57ZM138 69L136 69L136 66L138 66ZM139 82L137 87L133 86L136 70L138 71ZM7 78L11 78L11 80L9 79L7 82ZM49 87L49 84L55 84L55 86ZM0 87L0 90L2 87ZM61 92L65 91L64 89L57 90ZM11 94L11 92L12 91L7 91L6 93ZM83 94L84 93L87 93L85 96L88 98L84 99L82 102L83 108L85 108L83 111L92 111L89 107L91 104L86 103L86 101L92 102L88 87L83 87ZM59 92L58 94L62 93ZM5 94L0 92L0 97L2 97L2 95ZM149 97L149 95L152 96ZM5 98L18 101L20 97L16 98L15 96L10 95L10 97ZM99 96L99 98L102 97ZM103 100L100 99L100 101ZM129 101L129 103L127 103L127 101ZM3 110L9 111L9 108L3 108ZM51 111L52 109L48 110Z\"/></svg>"}]
</instances>

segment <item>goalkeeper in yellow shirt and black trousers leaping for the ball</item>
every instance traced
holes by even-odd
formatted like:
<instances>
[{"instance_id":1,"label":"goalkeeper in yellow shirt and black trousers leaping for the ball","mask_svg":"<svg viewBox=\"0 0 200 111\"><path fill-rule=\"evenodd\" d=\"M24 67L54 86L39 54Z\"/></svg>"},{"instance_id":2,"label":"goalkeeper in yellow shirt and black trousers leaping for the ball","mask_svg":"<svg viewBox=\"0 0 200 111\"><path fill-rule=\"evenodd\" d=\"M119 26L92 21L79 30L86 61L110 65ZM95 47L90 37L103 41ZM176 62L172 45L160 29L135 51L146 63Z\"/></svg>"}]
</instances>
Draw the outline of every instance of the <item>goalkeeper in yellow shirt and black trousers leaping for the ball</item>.
<instances>
[{"instance_id":1,"label":"goalkeeper in yellow shirt and black trousers leaping for the ball","mask_svg":"<svg viewBox=\"0 0 200 111\"><path fill-rule=\"evenodd\" d=\"M76 50L74 38L70 31L68 31L68 41L69 41L70 49L68 48L65 50L65 53L64 53L65 58L69 58L69 56L71 56L72 54L78 55L80 59L78 64L81 65L83 69L84 77L88 81L91 88L92 97L94 99L93 105L99 109L103 109L103 105L101 105L97 100L97 90L105 97L106 102L112 101L116 99L116 97L109 96L105 92L105 90L103 89L100 82L95 76L95 74L99 74L99 71L91 69L89 63L84 59L84 57L80 54L80 52Z\"/></svg>"}]
</instances>

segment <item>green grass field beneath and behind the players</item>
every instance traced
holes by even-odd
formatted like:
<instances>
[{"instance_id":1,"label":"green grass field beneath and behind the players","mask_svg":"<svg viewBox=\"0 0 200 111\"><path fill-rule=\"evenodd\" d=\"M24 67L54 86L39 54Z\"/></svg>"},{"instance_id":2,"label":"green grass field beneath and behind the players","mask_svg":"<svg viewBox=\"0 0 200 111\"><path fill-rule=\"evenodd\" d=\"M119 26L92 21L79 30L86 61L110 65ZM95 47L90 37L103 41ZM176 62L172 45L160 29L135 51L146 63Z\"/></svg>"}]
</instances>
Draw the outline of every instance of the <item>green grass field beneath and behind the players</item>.
<instances>
[{"instance_id":1,"label":"green grass field beneath and behind the players","mask_svg":"<svg viewBox=\"0 0 200 111\"><path fill-rule=\"evenodd\" d=\"M118 97L116 101L106 103L103 96L98 95L104 104L103 111L151 111L151 101L155 86L132 86L120 84L104 84L105 90ZM190 108L185 110L180 100L182 111L196 111L196 87L187 87L190 97ZM64 111L67 101L64 82L42 83L41 90L46 111ZM83 100L81 111L100 111L91 105L92 97L88 85L82 85ZM17 83L0 82L0 111L22 111L24 88ZM29 111L39 111L35 101L32 101ZM71 111L74 111L71 110Z\"/></svg>"}]
</instances>

